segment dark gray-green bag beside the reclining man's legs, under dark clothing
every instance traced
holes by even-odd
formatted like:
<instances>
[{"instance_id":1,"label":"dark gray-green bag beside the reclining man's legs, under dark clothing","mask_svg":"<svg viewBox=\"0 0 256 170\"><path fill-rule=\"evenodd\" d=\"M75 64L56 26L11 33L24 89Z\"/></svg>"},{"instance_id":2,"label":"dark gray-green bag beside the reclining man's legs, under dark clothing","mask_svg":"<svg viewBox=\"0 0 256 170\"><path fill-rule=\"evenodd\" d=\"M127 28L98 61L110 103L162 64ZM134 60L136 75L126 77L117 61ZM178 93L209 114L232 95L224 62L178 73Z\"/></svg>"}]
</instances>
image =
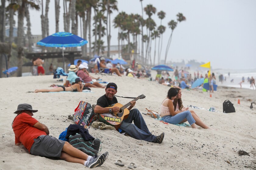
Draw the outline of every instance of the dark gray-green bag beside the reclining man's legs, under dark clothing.
<instances>
[{"instance_id":1,"label":"dark gray-green bag beside the reclining man's legs, under dark clothing","mask_svg":"<svg viewBox=\"0 0 256 170\"><path fill-rule=\"evenodd\" d=\"M69 143L87 155L96 156L99 152L101 140L91 139L86 141L82 135L76 134L74 136L69 136Z\"/></svg>"}]
</instances>

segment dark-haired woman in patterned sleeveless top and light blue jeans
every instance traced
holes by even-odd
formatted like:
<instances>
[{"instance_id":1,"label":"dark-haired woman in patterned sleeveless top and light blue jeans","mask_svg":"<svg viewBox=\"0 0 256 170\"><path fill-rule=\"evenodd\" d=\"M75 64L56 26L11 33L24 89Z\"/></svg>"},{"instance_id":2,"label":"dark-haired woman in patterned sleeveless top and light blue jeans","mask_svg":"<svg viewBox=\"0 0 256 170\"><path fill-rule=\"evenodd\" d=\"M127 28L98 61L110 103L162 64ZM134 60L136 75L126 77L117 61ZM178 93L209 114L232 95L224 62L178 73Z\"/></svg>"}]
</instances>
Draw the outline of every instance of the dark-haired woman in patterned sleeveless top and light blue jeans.
<instances>
[{"instance_id":1,"label":"dark-haired woman in patterned sleeveless top and light blue jeans","mask_svg":"<svg viewBox=\"0 0 256 170\"><path fill-rule=\"evenodd\" d=\"M195 123L198 126L201 126L202 121L199 117L194 116L191 114L189 110L179 110L175 111L173 106L173 100L176 98L178 91L175 88L170 88L167 94L167 97L161 104L161 117L163 121L170 123L170 124L181 124L186 121L190 124L192 128L197 128ZM201 126L202 127L202 126ZM208 129L208 126L203 128Z\"/></svg>"}]
</instances>

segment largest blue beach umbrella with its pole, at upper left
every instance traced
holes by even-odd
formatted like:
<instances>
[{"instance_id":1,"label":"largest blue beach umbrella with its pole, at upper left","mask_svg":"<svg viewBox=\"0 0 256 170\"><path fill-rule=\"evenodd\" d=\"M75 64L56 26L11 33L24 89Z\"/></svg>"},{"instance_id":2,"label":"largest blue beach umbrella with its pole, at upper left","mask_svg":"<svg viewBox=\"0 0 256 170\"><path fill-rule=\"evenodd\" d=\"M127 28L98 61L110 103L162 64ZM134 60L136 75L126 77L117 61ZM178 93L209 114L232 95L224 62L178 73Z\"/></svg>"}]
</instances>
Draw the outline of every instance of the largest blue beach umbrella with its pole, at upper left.
<instances>
[{"instance_id":1,"label":"largest blue beach umbrella with its pole, at upper left","mask_svg":"<svg viewBox=\"0 0 256 170\"><path fill-rule=\"evenodd\" d=\"M88 42L72 33L69 32L57 32L51 36L45 37L44 39L37 42L40 46L45 47L62 47L62 56L63 56L63 68L64 64L64 47L78 47L87 44ZM66 70L66 69L65 69Z\"/></svg>"}]
</instances>

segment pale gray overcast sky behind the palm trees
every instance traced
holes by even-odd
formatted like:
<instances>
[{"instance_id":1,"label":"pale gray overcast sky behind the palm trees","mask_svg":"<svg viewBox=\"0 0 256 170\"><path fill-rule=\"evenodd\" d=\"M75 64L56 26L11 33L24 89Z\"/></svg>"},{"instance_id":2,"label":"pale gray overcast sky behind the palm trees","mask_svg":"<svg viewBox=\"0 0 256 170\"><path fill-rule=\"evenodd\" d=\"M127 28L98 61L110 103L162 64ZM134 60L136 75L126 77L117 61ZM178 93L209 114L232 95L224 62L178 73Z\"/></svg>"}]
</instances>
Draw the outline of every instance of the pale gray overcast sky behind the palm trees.
<instances>
[{"instance_id":1,"label":"pale gray overcast sky behind the palm trees","mask_svg":"<svg viewBox=\"0 0 256 170\"><path fill-rule=\"evenodd\" d=\"M162 60L164 60L167 41L171 34L167 23L172 19L176 20L176 14L181 12L187 20L178 23L174 30L167 60L184 59L187 62L195 59L205 63L211 61L214 69L256 69L255 0L143 0L143 7L148 4L152 4L157 12L161 10L166 12L166 17L162 21L162 25L167 27L163 34ZM60 6L59 31L64 31L62 1ZM139 0L118 0L118 9L119 12L141 15ZM54 10L54 1L51 1L48 15L50 34L55 33ZM160 19L157 17L157 12L152 18L159 26ZM118 12L114 12L111 20L117 14ZM33 35L41 34L40 15L40 11L30 10ZM144 19L146 18L147 15L144 12ZM112 27L111 45L118 44L117 32L118 30ZM106 37L103 40L107 45ZM152 48L151 56L153 56L154 46Z\"/></svg>"}]
</instances>

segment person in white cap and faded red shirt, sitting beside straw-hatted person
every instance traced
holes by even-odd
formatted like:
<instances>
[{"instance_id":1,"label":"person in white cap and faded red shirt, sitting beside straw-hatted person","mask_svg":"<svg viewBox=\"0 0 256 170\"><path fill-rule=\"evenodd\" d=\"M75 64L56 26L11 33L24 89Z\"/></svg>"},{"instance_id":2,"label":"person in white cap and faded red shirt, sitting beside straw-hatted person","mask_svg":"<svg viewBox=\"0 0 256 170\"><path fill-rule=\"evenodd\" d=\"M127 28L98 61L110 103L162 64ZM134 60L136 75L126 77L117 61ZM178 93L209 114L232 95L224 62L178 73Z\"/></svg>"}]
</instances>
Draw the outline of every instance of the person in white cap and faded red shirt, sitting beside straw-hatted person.
<instances>
[{"instance_id":1,"label":"person in white cap and faded red shirt, sitting beside straw-hatted person","mask_svg":"<svg viewBox=\"0 0 256 170\"><path fill-rule=\"evenodd\" d=\"M87 73L85 73L85 69L86 69L86 67L83 64L80 64L79 70L76 73L76 75L78 77L80 77L82 80L84 80L85 87L98 87L98 88L104 88L104 89L106 88L105 86L102 86L97 81L93 82L91 84L90 82L92 81L92 79L91 79L91 77Z\"/></svg>"}]
</instances>

